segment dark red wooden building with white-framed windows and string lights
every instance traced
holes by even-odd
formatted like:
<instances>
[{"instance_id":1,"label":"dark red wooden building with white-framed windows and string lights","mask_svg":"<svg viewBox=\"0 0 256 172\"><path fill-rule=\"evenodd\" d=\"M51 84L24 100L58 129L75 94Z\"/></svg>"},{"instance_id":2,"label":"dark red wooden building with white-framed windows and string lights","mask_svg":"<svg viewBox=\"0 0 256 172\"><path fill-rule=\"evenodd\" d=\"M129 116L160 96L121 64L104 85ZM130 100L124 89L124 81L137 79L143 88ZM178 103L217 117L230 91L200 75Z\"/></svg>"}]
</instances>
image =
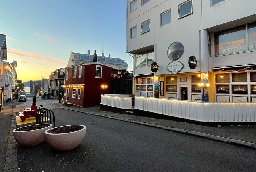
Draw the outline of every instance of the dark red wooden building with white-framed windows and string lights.
<instances>
[{"instance_id":1,"label":"dark red wooden building with white-framed windows and string lights","mask_svg":"<svg viewBox=\"0 0 256 172\"><path fill-rule=\"evenodd\" d=\"M112 66L100 62L65 68L63 105L90 107L100 104L101 94L110 94Z\"/></svg>"}]
</instances>

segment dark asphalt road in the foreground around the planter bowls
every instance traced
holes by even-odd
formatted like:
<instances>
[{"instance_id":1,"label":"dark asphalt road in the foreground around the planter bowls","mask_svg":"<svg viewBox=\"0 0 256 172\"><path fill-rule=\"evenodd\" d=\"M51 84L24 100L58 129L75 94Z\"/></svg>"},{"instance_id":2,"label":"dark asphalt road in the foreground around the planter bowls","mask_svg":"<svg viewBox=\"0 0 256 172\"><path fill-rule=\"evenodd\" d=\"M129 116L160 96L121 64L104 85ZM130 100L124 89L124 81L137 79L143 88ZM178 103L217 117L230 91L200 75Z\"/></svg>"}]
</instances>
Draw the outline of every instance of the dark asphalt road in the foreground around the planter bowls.
<instances>
[{"instance_id":1,"label":"dark asphalt road in the foreground around the planter bowls","mask_svg":"<svg viewBox=\"0 0 256 172\"><path fill-rule=\"evenodd\" d=\"M61 108L51 110L56 127L85 125L85 139L66 152L47 143L18 144L19 172L256 171L252 149Z\"/></svg>"}]
</instances>

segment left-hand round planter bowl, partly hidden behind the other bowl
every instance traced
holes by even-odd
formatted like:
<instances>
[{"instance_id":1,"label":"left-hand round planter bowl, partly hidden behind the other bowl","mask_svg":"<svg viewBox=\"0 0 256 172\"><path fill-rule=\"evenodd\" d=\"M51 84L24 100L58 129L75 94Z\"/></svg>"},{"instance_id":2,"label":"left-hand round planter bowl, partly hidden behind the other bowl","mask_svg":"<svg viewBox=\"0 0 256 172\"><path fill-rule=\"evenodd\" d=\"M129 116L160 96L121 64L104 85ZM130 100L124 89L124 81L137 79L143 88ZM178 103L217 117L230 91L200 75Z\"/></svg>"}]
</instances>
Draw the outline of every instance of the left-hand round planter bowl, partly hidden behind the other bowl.
<instances>
[{"instance_id":1,"label":"left-hand round planter bowl, partly hidden behind the other bowl","mask_svg":"<svg viewBox=\"0 0 256 172\"><path fill-rule=\"evenodd\" d=\"M44 131L51 129L52 124L35 124L35 125L29 125L29 126L36 126L36 125L48 125L48 126L41 129L28 130L28 131L17 131L24 127L14 129L12 131L14 139L23 146L35 146L42 143L44 141ZM29 126L25 126L25 127L29 127Z\"/></svg>"}]
</instances>

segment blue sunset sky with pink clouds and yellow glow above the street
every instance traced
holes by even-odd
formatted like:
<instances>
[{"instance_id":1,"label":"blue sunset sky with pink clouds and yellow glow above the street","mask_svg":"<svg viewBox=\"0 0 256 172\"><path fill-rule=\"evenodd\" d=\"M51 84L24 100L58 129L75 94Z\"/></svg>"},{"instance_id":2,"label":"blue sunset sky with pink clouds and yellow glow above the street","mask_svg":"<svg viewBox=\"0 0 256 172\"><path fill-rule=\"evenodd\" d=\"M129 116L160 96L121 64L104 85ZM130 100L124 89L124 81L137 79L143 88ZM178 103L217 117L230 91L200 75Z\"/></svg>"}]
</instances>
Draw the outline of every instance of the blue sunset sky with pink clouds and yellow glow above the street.
<instances>
[{"instance_id":1,"label":"blue sunset sky with pink clouds and yellow glow above the street","mask_svg":"<svg viewBox=\"0 0 256 172\"><path fill-rule=\"evenodd\" d=\"M64 68L71 51L122 58L126 53L125 0L1 1L0 34L7 37L7 61L17 61L17 79L49 78Z\"/></svg>"}]
</instances>

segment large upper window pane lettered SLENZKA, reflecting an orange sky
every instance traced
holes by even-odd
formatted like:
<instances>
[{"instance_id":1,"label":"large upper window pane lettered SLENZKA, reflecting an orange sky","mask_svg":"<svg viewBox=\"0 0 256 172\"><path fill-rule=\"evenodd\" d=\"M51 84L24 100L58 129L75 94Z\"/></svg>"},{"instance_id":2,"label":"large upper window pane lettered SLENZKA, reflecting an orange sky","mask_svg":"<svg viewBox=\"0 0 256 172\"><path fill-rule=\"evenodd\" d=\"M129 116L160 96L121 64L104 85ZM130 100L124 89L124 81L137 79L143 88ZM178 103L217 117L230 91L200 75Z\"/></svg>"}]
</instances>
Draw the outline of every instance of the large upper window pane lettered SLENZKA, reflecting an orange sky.
<instances>
[{"instance_id":1,"label":"large upper window pane lettered SLENZKA, reflecting an orange sky","mask_svg":"<svg viewBox=\"0 0 256 172\"><path fill-rule=\"evenodd\" d=\"M215 33L215 56L247 51L246 26Z\"/></svg>"}]
</instances>

